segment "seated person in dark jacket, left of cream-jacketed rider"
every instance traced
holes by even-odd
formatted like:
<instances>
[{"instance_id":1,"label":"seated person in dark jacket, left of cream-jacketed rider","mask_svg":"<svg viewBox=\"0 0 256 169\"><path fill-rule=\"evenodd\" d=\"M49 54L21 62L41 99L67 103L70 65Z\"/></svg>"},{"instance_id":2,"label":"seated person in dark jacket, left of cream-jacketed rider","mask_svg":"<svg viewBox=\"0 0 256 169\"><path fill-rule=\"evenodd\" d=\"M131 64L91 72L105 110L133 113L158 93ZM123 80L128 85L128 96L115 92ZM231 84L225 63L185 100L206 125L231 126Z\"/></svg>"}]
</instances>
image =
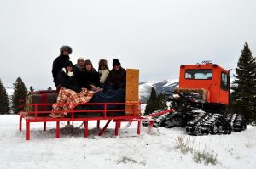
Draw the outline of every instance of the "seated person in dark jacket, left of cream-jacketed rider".
<instances>
[{"instance_id":1,"label":"seated person in dark jacket, left of cream-jacketed rider","mask_svg":"<svg viewBox=\"0 0 256 169\"><path fill-rule=\"evenodd\" d=\"M90 59L84 61L84 85L87 89L92 91L100 90L100 77L98 72L93 68Z\"/></svg>"}]
</instances>

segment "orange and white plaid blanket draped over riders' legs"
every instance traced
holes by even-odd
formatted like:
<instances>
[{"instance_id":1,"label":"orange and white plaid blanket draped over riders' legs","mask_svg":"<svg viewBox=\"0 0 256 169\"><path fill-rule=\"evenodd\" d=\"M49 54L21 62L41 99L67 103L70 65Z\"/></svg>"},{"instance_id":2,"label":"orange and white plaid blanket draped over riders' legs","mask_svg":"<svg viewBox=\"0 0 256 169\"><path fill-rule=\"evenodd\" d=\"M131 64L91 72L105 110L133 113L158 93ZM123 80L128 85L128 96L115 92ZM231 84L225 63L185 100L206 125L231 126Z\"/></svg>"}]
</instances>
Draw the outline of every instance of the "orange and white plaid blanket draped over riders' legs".
<instances>
[{"instance_id":1,"label":"orange and white plaid blanket draped over riders' legs","mask_svg":"<svg viewBox=\"0 0 256 169\"><path fill-rule=\"evenodd\" d=\"M67 89L65 87L61 87L60 92L58 94L57 102L54 104L53 112L51 113L51 117L63 117L67 115L67 113L54 112L58 110L69 111L72 110L75 105L73 104L85 104L90 101L93 94L95 92L87 90L86 88L82 88L80 93L76 93L73 90ZM64 105L59 105L64 104Z\"/></svg>"}]
</instances>

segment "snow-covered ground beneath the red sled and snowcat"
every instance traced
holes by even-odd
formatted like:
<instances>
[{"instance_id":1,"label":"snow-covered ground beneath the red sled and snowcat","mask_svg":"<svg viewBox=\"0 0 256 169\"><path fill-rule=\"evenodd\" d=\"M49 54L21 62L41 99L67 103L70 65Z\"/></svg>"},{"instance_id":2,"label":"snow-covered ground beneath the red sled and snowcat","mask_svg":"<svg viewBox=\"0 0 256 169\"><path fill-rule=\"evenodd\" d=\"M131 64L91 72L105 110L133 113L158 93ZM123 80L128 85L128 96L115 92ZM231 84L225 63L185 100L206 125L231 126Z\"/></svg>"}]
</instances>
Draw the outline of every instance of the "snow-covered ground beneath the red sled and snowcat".
<instances>
[{"instance_id":1,"label":"snow-covered ground beneath the red sled and snowcat","mask_svg":"<svg viewBox=\"0 0 256 169\"><path fill-rule=\"evenodd\" d=\"M231 135L188 136L183 128L143 127L137 136L136 125L113 135L113 123L102 136L96 136L96 122L90 121L90 137L84 138L81 122L74 128L61 123L61 138L55 138L55 123L42 131L42 123L32 123L31 140L18 130L18 115L0 115L0 168L255 168L256 127ZM101 124L103 126L103 124ZM125 124L124 124L125 126ZM25 128L25 123L23 123ZM123 127L123 126L122 126ZM217 155L217 164L195 163L192 153L182 153L176 140L182 137L196 151Z\"/></svg>"}]
</instances>

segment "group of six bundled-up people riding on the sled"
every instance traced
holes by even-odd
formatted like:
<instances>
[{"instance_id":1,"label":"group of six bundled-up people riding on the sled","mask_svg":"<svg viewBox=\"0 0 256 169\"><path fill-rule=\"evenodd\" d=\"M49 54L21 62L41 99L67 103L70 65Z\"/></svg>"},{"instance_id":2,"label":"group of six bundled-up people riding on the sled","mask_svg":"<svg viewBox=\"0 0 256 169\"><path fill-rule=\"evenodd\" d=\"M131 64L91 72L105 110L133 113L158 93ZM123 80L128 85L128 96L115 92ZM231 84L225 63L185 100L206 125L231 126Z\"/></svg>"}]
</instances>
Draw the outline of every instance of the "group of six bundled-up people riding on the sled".
<instances>
[{"instance_id":1,"label":"group of six bundled-up people riding on the sled","mask_svg":"<svg viewBox=\"0 0 256 169\"><path fill-rule=\"evenodd\" d=\"M60 55L54 60L52 75L57 88L66 87L77 93L82 88L97 92L102 89L125 88L126 71L121 67L118 59L113 59L113 69L109 70L106 59L101 59L98 71L93 67L90 59L79 58L73 65L69 54L72 48L63 46Z\"/></svg>"}]
</instances>

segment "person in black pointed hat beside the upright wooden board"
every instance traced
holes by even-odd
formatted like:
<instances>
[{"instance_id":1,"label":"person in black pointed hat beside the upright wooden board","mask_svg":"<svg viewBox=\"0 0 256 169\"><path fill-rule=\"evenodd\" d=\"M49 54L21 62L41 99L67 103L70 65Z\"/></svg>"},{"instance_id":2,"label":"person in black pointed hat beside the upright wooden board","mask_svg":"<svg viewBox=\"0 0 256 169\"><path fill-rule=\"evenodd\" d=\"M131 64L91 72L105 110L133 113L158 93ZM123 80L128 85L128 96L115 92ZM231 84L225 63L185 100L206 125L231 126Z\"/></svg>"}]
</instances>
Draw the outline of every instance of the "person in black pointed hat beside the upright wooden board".
<instances>
[{"instance_id":1,"label":"person in black pointed hat beside the upright wooden board","mask_svg":"<svg viewBox=\"0 0 256 169\"><path fill-rule=\"evenodd\" d=\"M126 70L121 67L118 59L113 59L113 69L108 74L107 85L114 90L119 88L125 89Z\"/></svg>"}]
</instances>

